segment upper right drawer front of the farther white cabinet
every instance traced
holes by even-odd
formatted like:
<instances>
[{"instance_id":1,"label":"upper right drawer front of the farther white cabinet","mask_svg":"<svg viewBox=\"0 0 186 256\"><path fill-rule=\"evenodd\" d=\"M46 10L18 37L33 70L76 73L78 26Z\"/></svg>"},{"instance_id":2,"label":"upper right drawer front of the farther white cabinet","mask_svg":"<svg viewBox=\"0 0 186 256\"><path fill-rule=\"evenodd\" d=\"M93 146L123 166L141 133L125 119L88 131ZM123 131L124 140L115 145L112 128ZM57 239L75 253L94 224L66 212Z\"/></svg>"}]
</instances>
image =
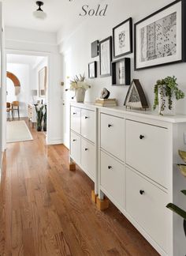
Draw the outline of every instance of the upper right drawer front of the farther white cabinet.
<instances>
[{"instance_id":1,"label":"upper right drawer front of the farther white cabinet","mask_svg":"<svg viewBox=\"0 0 186 256\"><path fill-rule=\"evenodd\" d=\"M81 109L81 135L95 142L95 111Z\"/></svg>"}]
</instances>

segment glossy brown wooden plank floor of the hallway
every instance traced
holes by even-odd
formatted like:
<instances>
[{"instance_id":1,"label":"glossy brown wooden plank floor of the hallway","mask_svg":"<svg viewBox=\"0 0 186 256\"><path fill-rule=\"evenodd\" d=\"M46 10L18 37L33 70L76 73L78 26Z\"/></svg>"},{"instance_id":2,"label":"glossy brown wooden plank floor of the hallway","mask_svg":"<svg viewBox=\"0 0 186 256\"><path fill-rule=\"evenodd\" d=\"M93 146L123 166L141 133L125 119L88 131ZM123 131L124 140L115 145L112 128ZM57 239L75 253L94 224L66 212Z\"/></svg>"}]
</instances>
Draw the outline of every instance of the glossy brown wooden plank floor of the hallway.
<instances>
[{"instance_id":1,"label":"glossy brown wooden plank floor of the hallway","mask_svg":"<svg viewBox=\"0 0 186 256\"><path fill-rule=\"evenodd\" d=\"M34 141L8 145L0 190L0 256L158 255L117 208L91 202L94 185L68 169L69 151Z\"/></svg>"}]
</instances>

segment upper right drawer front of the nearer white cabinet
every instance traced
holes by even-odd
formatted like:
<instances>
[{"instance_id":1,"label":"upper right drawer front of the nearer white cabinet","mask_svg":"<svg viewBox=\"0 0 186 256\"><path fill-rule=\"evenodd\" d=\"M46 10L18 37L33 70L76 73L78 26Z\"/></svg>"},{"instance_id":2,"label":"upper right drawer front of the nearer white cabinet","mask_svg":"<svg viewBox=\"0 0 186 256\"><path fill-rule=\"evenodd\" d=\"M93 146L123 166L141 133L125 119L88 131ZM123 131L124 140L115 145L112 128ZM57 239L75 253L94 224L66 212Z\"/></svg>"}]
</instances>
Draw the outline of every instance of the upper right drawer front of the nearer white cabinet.
<instances>
[{"instance_id":1,"label":"upper right drawer front of the nearer white cabinet","mask_svg":"<svg viewBox=\"0 0 186 256\"><path fill-rule=\"evenodd\" d=\"M168 130L127 120L126 163L167 187L167 180L169 180Z\"/></svg>"}]
</instances>

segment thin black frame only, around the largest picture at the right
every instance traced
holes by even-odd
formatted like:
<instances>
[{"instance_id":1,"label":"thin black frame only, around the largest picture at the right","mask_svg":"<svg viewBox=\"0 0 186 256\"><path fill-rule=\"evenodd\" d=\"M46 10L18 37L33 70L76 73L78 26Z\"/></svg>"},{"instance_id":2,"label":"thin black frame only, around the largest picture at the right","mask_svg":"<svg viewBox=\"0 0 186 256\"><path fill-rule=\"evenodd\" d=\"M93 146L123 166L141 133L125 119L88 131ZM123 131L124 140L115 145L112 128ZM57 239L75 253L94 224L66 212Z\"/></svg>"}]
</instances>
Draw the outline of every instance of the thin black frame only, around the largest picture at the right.
<instances>
[{"instance_id":1,"label":"thin black frame only, around the largest picture at the right","mask_svg":"<svg viewBox=\"0 0 186 256\"><path fill-rule=\"evenodd\" d=\"M173 61L173 62L166 62L166 63L162 63L162 64L157 64L157 65L153 65L153 66L144 66L141 68L137 68L136 67L136 26L143 22L146 21L147 19L153 17L154 15L161 13L163 10L168 9L170 6L173 6L175 4L177 4L178 2L181 2L181 59L177 60L177 61ZM171 2L168 6L163 7L162 9L158 9L158 11L152 13L151 15L143 18L143 20L136 22L136 24L134 24L134 70L144 70L144 69L150 69L152 67L158 67L158 66L166 66L166 65L171 65L171 64L175 64L175 63L180 63L180 62L185 62L186 61L186 49L184 48L185 43L186 43L186 33L184 32L184 30L186 29L186 1L185 0L177 0L174 2Z\"/></svg>"}]
</instances>

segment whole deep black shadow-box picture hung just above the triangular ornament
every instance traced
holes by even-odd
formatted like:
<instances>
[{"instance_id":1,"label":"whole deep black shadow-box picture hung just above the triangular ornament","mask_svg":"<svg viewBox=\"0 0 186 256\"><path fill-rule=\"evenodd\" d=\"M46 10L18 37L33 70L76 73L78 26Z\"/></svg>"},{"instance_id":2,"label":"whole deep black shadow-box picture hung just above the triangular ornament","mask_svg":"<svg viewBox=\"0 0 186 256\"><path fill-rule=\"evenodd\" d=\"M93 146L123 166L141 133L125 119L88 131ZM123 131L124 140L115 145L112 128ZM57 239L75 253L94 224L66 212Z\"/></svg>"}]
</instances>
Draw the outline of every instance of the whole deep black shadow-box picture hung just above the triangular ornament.
<instances>
[{"instance_id":1,"label":"whole deep black shadow-box picture hung just above the triangular ornament","mask_svg":"<svg viewBox=\"0 0 186 256\"><path fill-rule=\"evenodd\" d=\"M122 58L112 62L112 85L130 85L131 60Z\"/></svg>"}]
</instances>

